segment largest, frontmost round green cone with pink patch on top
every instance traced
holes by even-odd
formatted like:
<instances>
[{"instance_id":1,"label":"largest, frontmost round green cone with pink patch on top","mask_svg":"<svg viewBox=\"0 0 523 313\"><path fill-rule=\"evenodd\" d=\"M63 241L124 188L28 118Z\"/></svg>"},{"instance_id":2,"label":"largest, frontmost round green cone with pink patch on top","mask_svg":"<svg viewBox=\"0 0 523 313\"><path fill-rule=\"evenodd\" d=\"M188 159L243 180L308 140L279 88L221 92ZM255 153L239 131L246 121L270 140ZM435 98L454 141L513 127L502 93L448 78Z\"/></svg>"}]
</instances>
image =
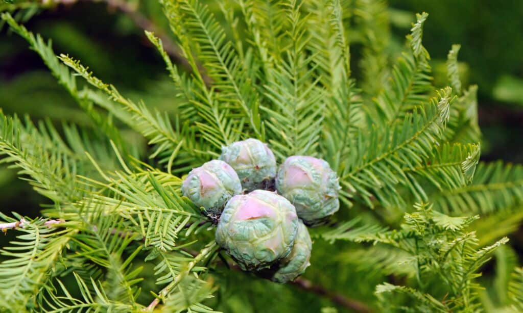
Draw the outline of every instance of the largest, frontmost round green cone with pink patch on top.
<instances>
[{"instance_id":1,"label":"largest, frontmost round green cone with pink patch on top","mask_svg":"<svg viewBox=\"0 0 523 313\"><path fill-rule=\"evenodd\" d=\"M298 216L287 199L255 190L227 203L216 242L243 270L259 270L290 254L297 231Z\"/></svg>"}]
</instances>

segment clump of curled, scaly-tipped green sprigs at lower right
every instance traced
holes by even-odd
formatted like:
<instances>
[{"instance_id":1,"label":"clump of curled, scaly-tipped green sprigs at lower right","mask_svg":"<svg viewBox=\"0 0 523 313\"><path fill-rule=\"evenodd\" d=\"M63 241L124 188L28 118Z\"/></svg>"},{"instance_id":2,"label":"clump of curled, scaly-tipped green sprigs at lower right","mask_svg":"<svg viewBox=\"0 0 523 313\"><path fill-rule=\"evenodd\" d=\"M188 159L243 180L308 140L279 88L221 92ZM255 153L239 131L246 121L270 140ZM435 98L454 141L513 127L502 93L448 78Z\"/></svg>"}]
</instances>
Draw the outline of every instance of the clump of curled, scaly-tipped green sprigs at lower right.
<instances>
[{"instance_id":1,"label":"clump of curled, scaly-tipped green sprigs at lower right","mask_svg":"<svg viewBox=\"0 0 523 313\"><path fill-rule=\"evenodd\" d=\"M416 272L417 288L384 283L376 287L386 310L394 308L394 300L385 300L385 294L400 293L416 300L411 307L417 311L447 312L466 311L479 304L477 291L480 285L474 280L480 276L476 271L490 259L504 237L490 246L477 249L474 232L466 231L478 216L451 217L433 211L427 204L416 204L416 212L405 213L400 230L384 232L366 227L365 231L349 230L328 235L330 239L371 241L401 249L411 256L410 265ZM361 228L361 227L360 227ZM349 233L353 233L348 235ZM370 235L370 233L374 233ZM430 282L442 284L431 286ZM445 296L445 301L434 295Z\"/></svg>"}]
</instances>

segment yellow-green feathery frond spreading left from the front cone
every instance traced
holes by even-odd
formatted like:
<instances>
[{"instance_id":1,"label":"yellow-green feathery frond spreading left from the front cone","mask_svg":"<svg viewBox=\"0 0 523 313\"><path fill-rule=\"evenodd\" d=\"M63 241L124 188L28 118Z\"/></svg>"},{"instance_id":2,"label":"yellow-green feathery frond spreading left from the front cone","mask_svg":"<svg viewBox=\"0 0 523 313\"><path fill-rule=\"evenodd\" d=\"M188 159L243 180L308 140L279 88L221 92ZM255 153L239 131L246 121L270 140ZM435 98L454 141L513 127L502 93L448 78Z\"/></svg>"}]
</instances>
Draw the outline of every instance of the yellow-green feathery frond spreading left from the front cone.
<instances>
[{"instance_id":1,"label":"yellow-green feathery frond spreading left from the front cone","mask_svg":"<svg viewBox=\"0 0 523 313\"><path fill-rule=\"evenodd\" d=\"M210 226L198 208L179 195L179 178L142 173L115 172L115 177L106 176L107 182L90 180L108 194L93 192L92 200L82 204L122 216L133 225L131 230L143 236L145 246L152 245L162 251L175 249L179 234L186 238Z\"/></svg>"}]
</instances>

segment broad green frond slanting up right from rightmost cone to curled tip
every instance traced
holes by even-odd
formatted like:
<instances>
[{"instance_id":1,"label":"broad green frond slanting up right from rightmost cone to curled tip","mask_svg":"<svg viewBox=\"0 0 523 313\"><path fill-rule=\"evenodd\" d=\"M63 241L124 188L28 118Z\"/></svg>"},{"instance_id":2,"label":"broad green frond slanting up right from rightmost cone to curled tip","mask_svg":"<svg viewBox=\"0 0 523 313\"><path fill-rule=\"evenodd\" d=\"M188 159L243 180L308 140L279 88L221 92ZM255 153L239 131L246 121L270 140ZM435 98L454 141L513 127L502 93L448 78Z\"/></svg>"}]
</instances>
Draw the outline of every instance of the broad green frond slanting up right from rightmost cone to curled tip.
<instances>
[{"instance_id":1,"label":"broad green frond slanting up right from rightmost cone to curled tip","mask_svg":"<svg viewBox=\"0 0 523 313\"><path fill-rule=\"evenodd\" d=\"M427 105L407 114L402 123L391 128L360 131L350 143L353 147L340 183L347 188L345 196L373 207L373 198L387 206L404 202L397 185L406 186L412 194L424 198L423 190L409 179L403 168L414 170L428 158L442 136L448 121L451 89L438 92ZM403 168L402 168L403 167Z\"/></svg>"}]
</instances>

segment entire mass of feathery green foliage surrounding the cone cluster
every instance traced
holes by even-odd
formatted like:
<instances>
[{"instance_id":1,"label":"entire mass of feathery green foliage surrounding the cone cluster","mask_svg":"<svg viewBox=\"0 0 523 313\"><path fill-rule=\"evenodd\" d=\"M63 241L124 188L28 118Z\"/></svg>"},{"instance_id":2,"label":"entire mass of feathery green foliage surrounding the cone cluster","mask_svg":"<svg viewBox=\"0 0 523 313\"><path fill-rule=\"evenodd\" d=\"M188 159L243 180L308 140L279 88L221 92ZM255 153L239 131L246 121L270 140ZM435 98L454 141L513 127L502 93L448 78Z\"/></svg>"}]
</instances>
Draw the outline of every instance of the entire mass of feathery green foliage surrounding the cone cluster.
<instances>
[{"instance_id":1,"label":"entire mass of feathery green foliage surrounding the cone cluster","mask_svg":"<svg viewBox=\"0 0 523 313\"><path fill-rule=\"evenodd\" d=\"M2 245L2 311L523 307L522 270L503 246L523 220L523 170L479 163L477 87L460 80L459 45L448 53L449 87L434 86L428 14L394 46L381 0L160 3L180 55L166 49L168 37L145 37L174 86L169 113L152 107L154 96L137 100L56 56L20 24L21 2L0 5L89 118L57 127L0 116L0 162L51 200L42 218L0 215L17 235ZM236 272L214 225L181 196L183 175L246 138L268 142L280 163L325 159L340 177L339 212L311 230L308 280L277 285ZM492 254L494 273L480 278Z\"/></svg>"}]
</instances>

